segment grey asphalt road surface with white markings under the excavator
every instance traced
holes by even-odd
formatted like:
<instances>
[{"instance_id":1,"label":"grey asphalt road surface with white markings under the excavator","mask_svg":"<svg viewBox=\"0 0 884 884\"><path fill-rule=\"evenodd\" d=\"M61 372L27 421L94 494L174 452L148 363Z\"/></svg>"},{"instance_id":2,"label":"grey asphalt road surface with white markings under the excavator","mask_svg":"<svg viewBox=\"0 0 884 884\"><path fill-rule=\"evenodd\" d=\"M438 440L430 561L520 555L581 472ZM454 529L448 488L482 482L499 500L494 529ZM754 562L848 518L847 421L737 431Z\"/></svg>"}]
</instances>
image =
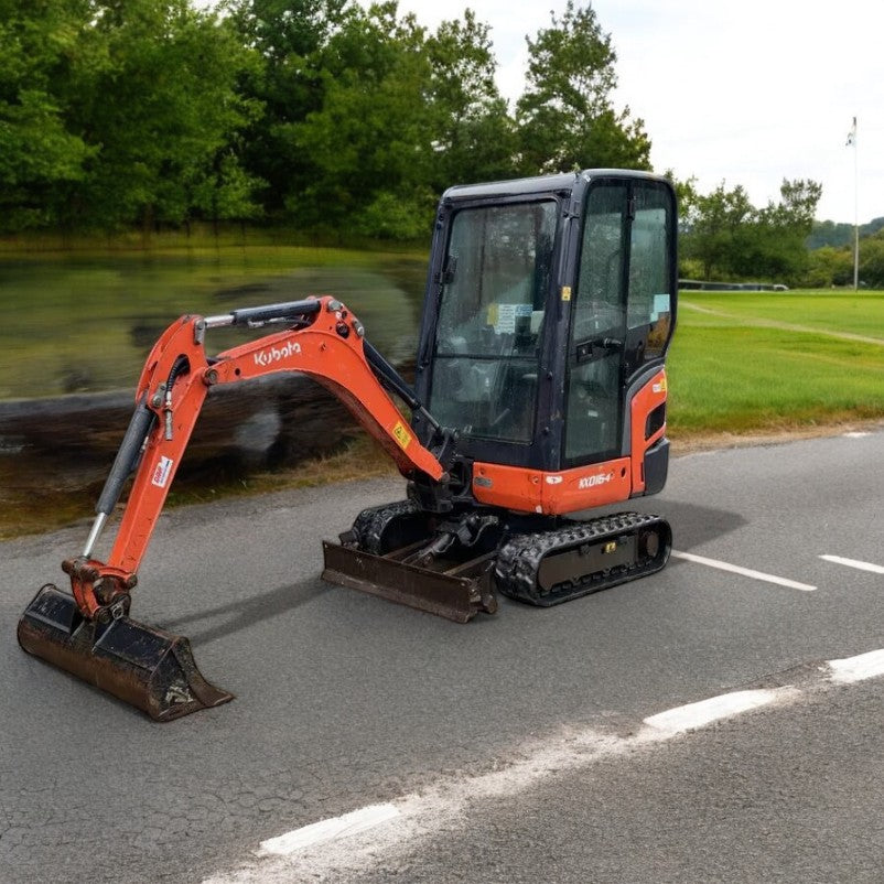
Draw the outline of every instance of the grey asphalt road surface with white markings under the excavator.
<instances>
[{"instance_id":1,"label":"grey asphalt road surface with white markings under the excavator","mask_svg":"<svg viewBox=\"0 0 884 884\"><path fill-rule=\"evenodd\" d=\"M884 648L884 574L820 558L884 565L883 457L881 431L678 457L639 508L719 565L465 626L319 580L398 482L175 510L133 614L237 699L166 725L15 644L85 529L0 545L0 881L884 881L884 678L826 665ZM734 691L774 699L646 721Z\"/></svg>"}]
</instances>

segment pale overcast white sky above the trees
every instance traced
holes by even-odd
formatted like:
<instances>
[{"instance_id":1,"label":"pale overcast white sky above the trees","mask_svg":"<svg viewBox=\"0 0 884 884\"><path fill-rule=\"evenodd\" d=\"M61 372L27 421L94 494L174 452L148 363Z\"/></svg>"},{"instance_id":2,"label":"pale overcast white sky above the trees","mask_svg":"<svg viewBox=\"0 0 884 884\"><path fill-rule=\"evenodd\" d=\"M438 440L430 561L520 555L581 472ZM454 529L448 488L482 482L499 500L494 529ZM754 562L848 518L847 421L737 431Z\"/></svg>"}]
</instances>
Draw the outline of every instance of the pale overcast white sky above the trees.
<instances>
[{"instance_id":1,"label":"pale overcast white sky above the trees","mask_svg":"<svg viewBox=\"0 0 884 884\"><path fill-rule=\"evenodd\" d=\"M526 34L565 0L400 0L399 11L434 29L465 6L490 25L498 86L514 103ZM655 171L693 175L702 193L742 184L759 207L779 200L784 177L811 179L822 184L820 220L884 216L884 8L874 0L592 6L617 53L614 104L644 120Z\"/></svg>"}]
</instances>

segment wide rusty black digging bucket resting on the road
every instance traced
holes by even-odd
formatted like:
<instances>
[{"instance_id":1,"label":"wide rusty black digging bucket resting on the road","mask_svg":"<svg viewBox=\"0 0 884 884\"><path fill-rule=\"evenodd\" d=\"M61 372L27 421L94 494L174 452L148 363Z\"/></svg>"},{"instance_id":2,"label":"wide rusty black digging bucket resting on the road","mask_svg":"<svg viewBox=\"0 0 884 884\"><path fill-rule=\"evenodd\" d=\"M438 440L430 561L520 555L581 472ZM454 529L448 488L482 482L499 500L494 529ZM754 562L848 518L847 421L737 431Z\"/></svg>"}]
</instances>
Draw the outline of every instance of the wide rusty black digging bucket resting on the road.
<instances>
[{"instance_id":1,"label":"wide rusty black digging bucket resting on the road","mask_svg":"<svg viewBox=\"0 0 884 884\"><path fill-rule=\"evenodd\" d=\"M154 721L233 700L203 678L184 636L127 616L108 624L85 619L74 599L52 584L28 605L18 634L29 654L138 707Z\"/></svg>"}]
</instances>

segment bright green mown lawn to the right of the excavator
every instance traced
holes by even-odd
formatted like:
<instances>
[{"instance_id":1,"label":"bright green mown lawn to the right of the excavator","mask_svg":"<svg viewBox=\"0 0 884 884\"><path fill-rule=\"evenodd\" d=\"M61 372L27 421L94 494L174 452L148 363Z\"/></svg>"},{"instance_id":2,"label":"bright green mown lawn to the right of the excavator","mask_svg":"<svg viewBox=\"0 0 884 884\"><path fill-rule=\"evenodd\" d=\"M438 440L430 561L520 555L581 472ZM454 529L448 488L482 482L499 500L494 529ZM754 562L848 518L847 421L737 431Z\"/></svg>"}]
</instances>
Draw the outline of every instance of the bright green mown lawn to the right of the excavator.
<instances>
[{"instance_id":1,"label":"bright green mown lawn to the right of the excavator","mask_svg":"<svg viewBox=\"0 0 884 884\"><path fill-rule=\"evenodd\" d=\"M668 364L675 439L884 417L884 293L692 291L680 306Z\"/></svg>"}]
</instances>

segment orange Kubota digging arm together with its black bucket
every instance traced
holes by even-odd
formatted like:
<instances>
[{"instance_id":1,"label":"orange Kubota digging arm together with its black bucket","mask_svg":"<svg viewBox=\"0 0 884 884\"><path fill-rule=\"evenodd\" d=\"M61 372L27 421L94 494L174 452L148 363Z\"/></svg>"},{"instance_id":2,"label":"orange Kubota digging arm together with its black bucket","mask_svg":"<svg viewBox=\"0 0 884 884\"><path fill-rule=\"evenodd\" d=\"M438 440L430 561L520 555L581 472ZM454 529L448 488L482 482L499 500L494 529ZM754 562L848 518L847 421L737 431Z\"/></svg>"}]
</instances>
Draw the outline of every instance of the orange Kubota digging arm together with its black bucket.
<instances>
[{"instance_id":1,"label":"orange Kubota digging arm together with its black bucket","mask_svg":"<svg viewBox=\"0 0 884 884\"><path fill-rule=\"evenodd\" d=\"M267 324L283 330L215 357L206 355L208 330ZM322 297L218 316L182 316L160 336L141 373L134 413L96 505L86 546L62 564L71 578L71 595L46 584L19 622L25 650L160 721L231 699L203 678L184 636L130 619L130 592L208 391L280 371L309 375L331 390L403 475L445 485L454 434L433 420L364 339L362 323L339 301ZM388 390L435 430L433 450L414 436ZM110 554L100 561L93 550L132 473ZM362 571L364 561L356 567Z\"/></svg>"}]
</instances>

